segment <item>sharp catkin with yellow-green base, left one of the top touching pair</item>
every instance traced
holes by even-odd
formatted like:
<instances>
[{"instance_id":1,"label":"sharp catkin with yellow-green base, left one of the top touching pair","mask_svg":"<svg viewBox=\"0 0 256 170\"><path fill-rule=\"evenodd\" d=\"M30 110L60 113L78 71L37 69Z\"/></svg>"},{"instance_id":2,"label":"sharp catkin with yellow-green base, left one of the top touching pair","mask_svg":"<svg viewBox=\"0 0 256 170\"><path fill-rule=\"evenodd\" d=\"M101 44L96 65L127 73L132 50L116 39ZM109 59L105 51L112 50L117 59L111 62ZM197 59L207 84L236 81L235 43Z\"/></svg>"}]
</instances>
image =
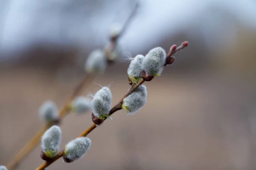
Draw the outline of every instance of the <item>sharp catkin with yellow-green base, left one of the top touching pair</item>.
<instances>
[{"instance_id":1,"label":"sharp catkin with yellow-green base, left one of the top touching pair","mask_svg":"<svg viewBox=\"0 0 256 170\"><path fill-rule=\"evenodd\" d=\"M127 73L132 84L137 84L142 79L142 63L144 58L143 55L137 55L129 65Z\"/></svg>"}]
</instances>

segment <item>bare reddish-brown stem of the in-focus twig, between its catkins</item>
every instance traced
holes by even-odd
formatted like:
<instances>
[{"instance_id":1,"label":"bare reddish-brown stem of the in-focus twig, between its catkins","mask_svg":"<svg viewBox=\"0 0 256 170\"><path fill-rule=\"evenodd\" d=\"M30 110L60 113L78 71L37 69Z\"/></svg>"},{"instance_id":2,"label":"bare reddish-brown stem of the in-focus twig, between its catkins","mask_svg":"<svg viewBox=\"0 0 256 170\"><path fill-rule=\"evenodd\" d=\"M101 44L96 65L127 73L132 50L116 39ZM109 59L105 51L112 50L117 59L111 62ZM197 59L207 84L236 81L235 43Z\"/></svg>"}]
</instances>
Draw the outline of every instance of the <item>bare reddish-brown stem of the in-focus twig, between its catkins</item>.
<instances>
[{"instance_id":1,"label":"bare reddish-brown stem of the in-focus twig, between its catkins","mask_svg":"<svg viewBox=\"0 0 256 170\"><path fill-rule=\"evenodd\" d=\"M188 42L183 42L182 45L179 46L179 48L170 48L168 54L166 55L166 58L172 57L173 54L175 54L177 51L179 51L182 48L185 48L188 45ZM176 46L177 47L177 46ZM167 64L166 64L167 65ZM165 66L166 66L165 65ZM122 97L122 99L109 111L109 115L112 115L113 113L115 113L116 111L119 111L122 109L122 102L123 99L125 99L125 97L129 96L132 92L134 92L135 89L137 89L140 85L143 84L143 82L145 82L145 80L141 79L140 82L138 82L136 85L132 85L131 88L128 90L128 92ZM106 120L107 118L105 118ZM91 131L93 131L93 129L95 129L97 127L96 124L91 125L87 130L85 130L83 133L81 133L80 136L78 137L82 137L82 136L87 136ZM38 167L36 170L44 170L44 168L48 167L50 164L52 164L53 162L55 162L56 160L58 160L59 158L61 158L64 154L64 150L62 150L61 152L59 152L56 156L54 156L50 161L45 161L44 164L42 164L40 167Z\"/></svg>"}]
</instances>

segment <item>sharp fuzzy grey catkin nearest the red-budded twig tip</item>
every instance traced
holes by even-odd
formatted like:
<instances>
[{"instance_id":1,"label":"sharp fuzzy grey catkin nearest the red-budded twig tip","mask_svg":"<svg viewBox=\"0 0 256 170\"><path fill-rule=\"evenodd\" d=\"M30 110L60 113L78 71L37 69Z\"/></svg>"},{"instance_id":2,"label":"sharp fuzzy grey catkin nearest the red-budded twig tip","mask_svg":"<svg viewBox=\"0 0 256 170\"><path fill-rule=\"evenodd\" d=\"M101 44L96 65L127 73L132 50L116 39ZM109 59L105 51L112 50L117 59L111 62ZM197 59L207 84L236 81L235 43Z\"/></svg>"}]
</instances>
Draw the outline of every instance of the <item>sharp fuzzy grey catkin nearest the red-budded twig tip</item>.
<instances>
[{"instance_id":1,"label":"sharp fuzzy grey catkin nearest the red-budded twig tip","mask_svg":"<svg viewBox=\"0 0 256 170\"><path fill-rule=\"evenodd\" d=\"M161 47L156 47L148 51L143 60L143 70L147 75L157 76L163 71L166 60L166 52Z\"/></svg>"}]
</instances>

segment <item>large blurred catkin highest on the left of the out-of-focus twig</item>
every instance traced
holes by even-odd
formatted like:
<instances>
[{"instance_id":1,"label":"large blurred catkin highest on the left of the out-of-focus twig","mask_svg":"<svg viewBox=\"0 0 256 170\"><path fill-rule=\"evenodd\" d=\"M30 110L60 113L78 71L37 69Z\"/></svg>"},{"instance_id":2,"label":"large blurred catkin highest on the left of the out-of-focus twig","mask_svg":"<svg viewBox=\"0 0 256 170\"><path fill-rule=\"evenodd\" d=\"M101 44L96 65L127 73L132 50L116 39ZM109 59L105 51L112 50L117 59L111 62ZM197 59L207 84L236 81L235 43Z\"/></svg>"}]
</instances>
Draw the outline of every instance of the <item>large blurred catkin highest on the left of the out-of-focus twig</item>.
<instances>
[{"instance_id":1,"label":"large blurred catkin highest on the left of the out-of-focus twig","mask_svg":"<svg viewBox=\"0 0 256 170\"><path fill-rule=\"evenodd\" d=\"M93 50L84 65L84 69L89 74L103 73L107 67L104 52L100 49Z\"/></svg>"}]
</instances>

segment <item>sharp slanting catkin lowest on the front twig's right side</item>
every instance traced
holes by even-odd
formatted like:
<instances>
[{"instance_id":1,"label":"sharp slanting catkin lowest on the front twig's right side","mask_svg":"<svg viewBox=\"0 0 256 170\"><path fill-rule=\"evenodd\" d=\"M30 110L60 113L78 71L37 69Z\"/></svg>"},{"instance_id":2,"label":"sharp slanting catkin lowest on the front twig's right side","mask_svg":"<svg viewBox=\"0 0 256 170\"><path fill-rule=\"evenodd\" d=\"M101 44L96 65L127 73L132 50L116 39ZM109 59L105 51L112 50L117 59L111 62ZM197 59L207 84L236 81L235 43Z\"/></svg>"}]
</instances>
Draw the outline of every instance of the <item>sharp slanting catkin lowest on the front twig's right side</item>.
<instances>
[{"instance_id":1,"label":"sharp slanting catkin lowest on the front twig's right side","mask_svg":"<svg viewBox=\"0 0 256 170\"><path fill-rule=\"evenodd\" d=\"M64 150L63 159L65 162L72 162L80 159L90 149L91 140L87 137L79 137L70 141Z\"/></svg>"}]
</instances>

